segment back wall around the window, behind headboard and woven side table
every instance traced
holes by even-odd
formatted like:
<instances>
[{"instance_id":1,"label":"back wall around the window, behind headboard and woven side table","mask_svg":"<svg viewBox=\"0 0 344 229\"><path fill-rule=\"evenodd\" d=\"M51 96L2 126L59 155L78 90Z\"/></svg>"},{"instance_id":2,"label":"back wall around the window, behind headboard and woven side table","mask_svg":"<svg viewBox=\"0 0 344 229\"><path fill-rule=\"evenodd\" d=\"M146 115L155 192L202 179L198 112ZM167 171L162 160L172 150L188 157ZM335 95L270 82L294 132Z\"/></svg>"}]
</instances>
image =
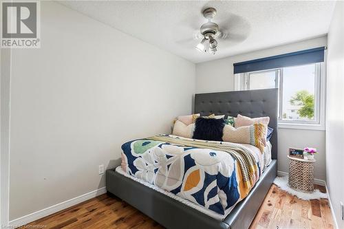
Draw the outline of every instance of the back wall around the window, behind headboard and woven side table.
<instances>
[{"instance_id":1,"label":"back wall around the window, behind headboard and woven side table","mask_svg":"<svg viewBox=\"0 0 344 229\"><path fill-rule=\"evenodd\" d=\"M233 63L326 45L327 37L322 36L298 43L199 63L196 65L196 93L234 90ZM286 155L288 154L289 147L303 148L305 146L313 146L319 150L319 154L315 156L317 160L315 163L315 177L325 180L325 131L279 128L278 134L279 171L288 172L288 158Z\"/></svg>"}]
</instances>

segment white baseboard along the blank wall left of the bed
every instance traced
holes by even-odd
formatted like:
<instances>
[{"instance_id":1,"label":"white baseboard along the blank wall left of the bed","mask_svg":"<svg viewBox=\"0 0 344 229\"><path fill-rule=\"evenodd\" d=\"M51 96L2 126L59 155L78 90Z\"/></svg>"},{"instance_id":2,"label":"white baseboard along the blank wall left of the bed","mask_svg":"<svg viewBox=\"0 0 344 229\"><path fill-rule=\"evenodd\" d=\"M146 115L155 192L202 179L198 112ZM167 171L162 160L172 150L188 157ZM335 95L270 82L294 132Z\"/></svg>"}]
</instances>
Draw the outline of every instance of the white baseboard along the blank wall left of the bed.
<instances>
[{"instance_id":1,"label":"white baseboard along the blank wall left of the bed","mask_svg":"<svg viewBox=\"0 0 344 229\"><path fill-rule=\"evenodd\" d=\"M99 188L97 190L93 190L92 192L85 193L83 195L80 195L78 197L74 197L73 199L68 199L66 201L63 201L62 203L55 204L54 206L50 206L48 208L44 208L42 210L33 212L29 215L25 215L23 217L20 217L18 219L14 219L10 221L10 226L14 226L14 228L23 226L27 223L30 223L32 221L35 221L37 219L41 219L43 217L46 217L48 215L52 215L55 212L58 212L60 210L64 210L66 208L72 207L76 204L80 204L83 201L86 201L87 199L92 199L94 197L97 197L98 195L102 195L106 193L106 188Z\"/></svg>"}]
</instances>

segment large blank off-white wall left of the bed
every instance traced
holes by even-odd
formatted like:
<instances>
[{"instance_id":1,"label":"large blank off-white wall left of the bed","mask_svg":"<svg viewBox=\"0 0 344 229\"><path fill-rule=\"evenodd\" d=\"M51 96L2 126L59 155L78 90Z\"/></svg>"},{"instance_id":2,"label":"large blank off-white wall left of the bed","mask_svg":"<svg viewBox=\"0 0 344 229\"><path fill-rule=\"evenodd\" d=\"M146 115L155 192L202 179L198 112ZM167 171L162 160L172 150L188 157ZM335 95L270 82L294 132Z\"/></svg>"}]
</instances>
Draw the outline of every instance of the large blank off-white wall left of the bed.
<instances>
[{"instance_id":1,"label":"large blank off-white wall left of the bed","mask_svg":"<svg viewBox=\"0 0 344 229\"><path fill-rule=\"evenodd\" d=\"M123 142L191 113L193 63L58 3L12 55L10 219L105 186Z\"/></svg>"}]
</instances>

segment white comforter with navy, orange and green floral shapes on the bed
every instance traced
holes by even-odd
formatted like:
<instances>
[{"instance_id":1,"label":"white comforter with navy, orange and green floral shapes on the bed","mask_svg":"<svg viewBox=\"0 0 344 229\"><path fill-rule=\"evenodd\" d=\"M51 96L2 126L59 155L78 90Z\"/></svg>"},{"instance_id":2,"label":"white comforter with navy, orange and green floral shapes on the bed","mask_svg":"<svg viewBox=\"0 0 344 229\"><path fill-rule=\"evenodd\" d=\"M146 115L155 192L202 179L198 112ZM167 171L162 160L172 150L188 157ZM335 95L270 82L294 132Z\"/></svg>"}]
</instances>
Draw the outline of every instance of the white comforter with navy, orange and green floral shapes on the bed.
<instances>
[{"instance_id":1,"label":"white comforter with navy, orange and green floral shapes on the bed","mask_svg":"<svg viewBox=\"0 0 344 229\"><path fill-rule=\"evenodd\" d=\"M225 215L261 175L260 155L230 142L157 135L122 145L122 170Z\"/></svg>"}]
</instances>

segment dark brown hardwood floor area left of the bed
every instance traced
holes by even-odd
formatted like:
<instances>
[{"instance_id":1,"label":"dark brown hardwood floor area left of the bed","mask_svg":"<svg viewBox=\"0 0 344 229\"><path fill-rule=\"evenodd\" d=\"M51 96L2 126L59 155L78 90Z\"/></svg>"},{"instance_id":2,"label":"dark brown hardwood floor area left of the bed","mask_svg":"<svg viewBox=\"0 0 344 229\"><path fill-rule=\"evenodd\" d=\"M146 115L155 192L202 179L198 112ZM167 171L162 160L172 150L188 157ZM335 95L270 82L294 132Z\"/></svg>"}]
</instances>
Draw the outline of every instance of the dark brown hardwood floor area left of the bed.
<instances>
[{"instance_id":1,"label":"dark brown hardwood floor area left of the bed","mask_svg":"<svg viewBox=\"0 0 344 229\"><path fill-rule=\"evenodd\" d=\"M28 225L52 229L163 228L125 201L106 193Z\"/></svg>"}]
</instances>

